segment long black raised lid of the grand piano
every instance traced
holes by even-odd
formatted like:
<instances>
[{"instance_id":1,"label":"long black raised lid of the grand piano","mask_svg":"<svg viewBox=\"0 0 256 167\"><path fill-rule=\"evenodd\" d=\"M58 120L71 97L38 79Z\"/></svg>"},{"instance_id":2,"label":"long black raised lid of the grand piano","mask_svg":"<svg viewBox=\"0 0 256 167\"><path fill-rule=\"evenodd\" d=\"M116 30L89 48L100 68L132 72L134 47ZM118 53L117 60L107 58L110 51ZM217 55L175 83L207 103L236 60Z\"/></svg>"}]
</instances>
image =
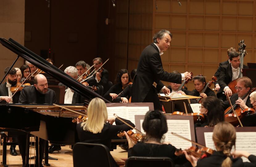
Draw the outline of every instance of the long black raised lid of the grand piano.
<instances>
[{"instance_id":1,"label":"long black raised lid of the grand piano","mask_svg":"<svg viewBox=\"0 0 256 167\"><path fill-rule=\"evenodd\" d=\"M77 82L68 74L64 73L63 71L53 66L51 63L47 62L39 55L33 53L31 50L20 45L13 39L10 38L9 40L6 40L5 38L0 38L0 43L12 52L14 52L15 54L18 54L23 59L38 67L40 70L43 70L45 73L49 74L53 78L56 78L58 81L68 86L81 96L85 97L87 100L91 101L91 99L93 99L94 97L99 97L106 103L110 103L110 101L106 100L104 97L93 92L91 89L87 88L80 82Z\"/></svg>"}]
</instances>

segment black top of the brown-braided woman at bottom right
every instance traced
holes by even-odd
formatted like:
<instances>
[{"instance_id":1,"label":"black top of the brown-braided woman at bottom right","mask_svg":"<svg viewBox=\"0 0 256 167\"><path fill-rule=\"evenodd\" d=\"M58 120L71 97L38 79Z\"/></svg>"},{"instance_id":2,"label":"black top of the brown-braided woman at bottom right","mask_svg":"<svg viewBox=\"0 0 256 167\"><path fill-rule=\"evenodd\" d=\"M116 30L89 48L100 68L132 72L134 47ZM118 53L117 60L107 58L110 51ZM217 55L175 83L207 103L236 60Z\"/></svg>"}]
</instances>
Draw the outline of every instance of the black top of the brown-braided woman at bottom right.
<instances>
[{"instance_id":1,"label":"black top of the brown-braided woman at bottom right","mask_svg":"<svg viewBox=\"0 0 256 167\"><path fill-rule=\"evenodd\" d=\"M248 157L250 162L243 162L242 158L230 157L232 161L232 167L256 167L256 156L250 155ZM210 157L199 159L196 167L220 167L222 162L226 159L226 156L222 151L214 152Z\"/></svg>"}]
</instances>

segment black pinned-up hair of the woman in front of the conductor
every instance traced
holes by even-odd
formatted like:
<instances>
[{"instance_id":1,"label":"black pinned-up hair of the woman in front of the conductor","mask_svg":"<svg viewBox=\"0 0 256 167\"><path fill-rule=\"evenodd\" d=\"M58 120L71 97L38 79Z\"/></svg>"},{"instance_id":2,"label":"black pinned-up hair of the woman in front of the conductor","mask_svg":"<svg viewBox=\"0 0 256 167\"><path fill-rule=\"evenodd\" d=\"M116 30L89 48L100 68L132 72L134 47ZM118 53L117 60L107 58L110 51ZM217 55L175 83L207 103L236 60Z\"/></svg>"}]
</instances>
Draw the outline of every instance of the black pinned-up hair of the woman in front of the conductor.
<instances>
[{"instance_id":1,"label":"black pinned-up hair of the woman in front of the conductor","mask_svg":"<svg viewBox=\"0 0 256 167\"><path fill-rule=\"evenodd\" d=\"M161 142L163 134L167 133L167 121L163 112L158 110L148 111L142 123L142 128L146 132L146 140Z\"/></svg>"}]
</instances>

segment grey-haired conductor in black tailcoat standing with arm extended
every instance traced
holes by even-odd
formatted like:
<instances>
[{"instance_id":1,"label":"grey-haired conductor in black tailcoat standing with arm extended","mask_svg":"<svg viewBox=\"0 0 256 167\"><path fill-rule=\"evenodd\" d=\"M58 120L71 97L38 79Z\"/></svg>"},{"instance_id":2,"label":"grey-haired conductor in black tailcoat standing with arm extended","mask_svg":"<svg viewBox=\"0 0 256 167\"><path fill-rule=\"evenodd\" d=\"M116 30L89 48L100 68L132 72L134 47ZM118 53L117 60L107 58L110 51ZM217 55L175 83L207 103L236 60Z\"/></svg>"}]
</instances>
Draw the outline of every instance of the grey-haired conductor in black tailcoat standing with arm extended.
<instances>
[{"instance_id":1,"label":"grey-haired conductor in black tailcoat standing with arm extended","mask_svg":"<svg viewBox=\"0 0 256 167\"><path fill-rule=\"evenodd\" d=\"M155 109L162 110L157 93L169 94L170 90L160 80L181 83L182 79L191 77L188 72L172 74L163 70L160 55L169 48L171 38L169 31L160 30L154 35L154 43L142 51L132 86L132 102L153 102ZM156 88L154 82L157 83Z\"/></svg>"}]
</instances>

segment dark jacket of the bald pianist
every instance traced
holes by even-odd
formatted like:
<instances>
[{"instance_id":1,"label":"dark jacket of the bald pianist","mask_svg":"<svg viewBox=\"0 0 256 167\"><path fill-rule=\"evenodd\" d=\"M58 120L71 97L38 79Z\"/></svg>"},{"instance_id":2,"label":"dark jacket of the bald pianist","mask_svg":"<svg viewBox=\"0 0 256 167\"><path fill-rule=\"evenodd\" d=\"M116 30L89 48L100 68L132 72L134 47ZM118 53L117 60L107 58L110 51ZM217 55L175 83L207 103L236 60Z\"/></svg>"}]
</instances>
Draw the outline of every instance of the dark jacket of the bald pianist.
<instances>
[{"instance_id":1,"label":"dark jacket of the bald pianist","mask_svg":"<svg viewBox=\"0 0 256 167\"><path fill-rule=\"evenodd\" d=\"M22 104L36 104L36 88L35 86L28 86L21 90L19 103ZM48 89L47 93L45 94L45 104L52 104L56 103L55 92L52 89Z\"/></svg>"}]
</instances>

